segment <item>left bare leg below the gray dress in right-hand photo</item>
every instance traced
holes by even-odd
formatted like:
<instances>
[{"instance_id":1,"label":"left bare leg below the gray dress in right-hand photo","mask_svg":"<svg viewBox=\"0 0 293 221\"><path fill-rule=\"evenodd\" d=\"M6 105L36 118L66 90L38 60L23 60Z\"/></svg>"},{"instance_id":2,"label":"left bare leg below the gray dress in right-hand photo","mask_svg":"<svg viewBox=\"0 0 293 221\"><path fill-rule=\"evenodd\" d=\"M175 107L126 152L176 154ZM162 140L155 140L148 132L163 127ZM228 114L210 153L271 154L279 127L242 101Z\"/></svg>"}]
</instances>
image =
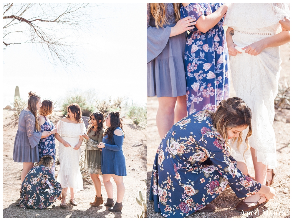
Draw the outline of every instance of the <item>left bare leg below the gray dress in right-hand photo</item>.
<instances>
[{"instance_id":1,"label":"left bare leg below the gray dress in right-hand photo","mask_svg":"<svg viewBox=\"0 0 293 221\"><path fill-rule=\"evenodd\" d=\"M174 124L174 108L177 97L158 97L159 108L156 122L160 138L163 139L165 134Z\"/></svg>"}]
</instances>

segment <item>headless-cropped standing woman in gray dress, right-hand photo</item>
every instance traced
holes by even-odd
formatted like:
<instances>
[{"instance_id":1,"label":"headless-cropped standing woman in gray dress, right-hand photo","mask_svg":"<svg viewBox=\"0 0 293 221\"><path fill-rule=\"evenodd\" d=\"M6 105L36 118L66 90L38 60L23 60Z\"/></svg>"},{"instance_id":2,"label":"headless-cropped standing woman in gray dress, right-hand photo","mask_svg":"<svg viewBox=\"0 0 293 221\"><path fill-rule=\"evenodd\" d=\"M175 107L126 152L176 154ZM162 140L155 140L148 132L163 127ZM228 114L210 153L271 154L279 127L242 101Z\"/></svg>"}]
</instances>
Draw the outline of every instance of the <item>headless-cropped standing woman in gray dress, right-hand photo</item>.
<instances>
[{"instance_id":1,"label":"headless-cropped standing woman in gray dress, right-hand photo","mask_svg":"<svg viewBox=\"0 0 293 221\"><path fill-rule=\"evenodd\" d=\"M186 31L194 28L194 21L180 20L180 3L147 3L147 96L158 97L161 139L187 115L183 59Z\"/></svg>"}]
</instances>

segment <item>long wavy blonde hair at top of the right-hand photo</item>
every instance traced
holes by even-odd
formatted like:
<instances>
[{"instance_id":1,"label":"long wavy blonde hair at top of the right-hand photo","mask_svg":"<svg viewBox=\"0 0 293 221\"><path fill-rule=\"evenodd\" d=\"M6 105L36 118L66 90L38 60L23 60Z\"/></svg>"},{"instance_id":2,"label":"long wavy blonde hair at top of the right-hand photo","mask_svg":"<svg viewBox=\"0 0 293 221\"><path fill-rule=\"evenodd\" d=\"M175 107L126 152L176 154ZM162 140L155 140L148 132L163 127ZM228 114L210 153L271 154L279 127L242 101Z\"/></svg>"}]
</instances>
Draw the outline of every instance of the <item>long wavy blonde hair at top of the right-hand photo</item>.
<instances>
[{"instance_id":1,"label":"long wavy blonde hair at top of the right-hand photo","mask_svg":"<svg viewBox=\"0 0 293 221\"><path fill-rule=\"evenodd\" d=\"M180 20L180 3L173 3L176 22ZM150 13L155 19L157 28L170 24L166 15L166 3L150 3Z\"/></svg>"}]
</instances>

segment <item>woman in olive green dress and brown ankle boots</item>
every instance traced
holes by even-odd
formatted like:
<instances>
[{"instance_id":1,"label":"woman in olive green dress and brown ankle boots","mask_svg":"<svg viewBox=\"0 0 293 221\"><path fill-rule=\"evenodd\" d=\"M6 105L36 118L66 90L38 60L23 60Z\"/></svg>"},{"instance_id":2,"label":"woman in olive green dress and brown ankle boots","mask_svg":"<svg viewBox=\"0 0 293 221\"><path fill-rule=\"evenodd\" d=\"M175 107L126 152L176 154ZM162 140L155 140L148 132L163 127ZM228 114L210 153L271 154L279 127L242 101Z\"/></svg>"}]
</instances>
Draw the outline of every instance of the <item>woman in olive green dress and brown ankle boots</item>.
<instances>
[{"instance_id":1,"label":"woman in olive green dress and brown ankle boots","mask_svg":"<svg viewBox=\"0 0 293 221\"><path fill-rule=\"evenodd\" d=\"M90 173L90 177L95 186L96 197L94 202L90 202L92 206L100 206L104 199L101 195L101 159L102 149L97 147L97 144L102 142L104 136L104 115L101 112L95 112L90 116L90 125L87 129L87 134L83 135L86 142L85 148L85 168Z\"/></svg>"}]
</instances>

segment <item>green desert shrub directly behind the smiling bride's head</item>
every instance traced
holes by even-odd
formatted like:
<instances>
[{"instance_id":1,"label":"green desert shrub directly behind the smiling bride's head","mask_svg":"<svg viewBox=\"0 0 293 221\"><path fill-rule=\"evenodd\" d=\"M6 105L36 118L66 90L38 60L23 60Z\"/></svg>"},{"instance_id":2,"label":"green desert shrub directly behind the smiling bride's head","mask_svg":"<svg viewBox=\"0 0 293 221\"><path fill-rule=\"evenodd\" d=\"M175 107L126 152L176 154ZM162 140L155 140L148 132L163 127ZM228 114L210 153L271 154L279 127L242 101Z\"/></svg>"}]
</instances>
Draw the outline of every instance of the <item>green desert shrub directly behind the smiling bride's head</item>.
<instances>
[{"instance_id":1,"label":"green desert shrub directly behind the smiling bride's head","mask_svg":"<svg viewBox=\"0 0 293 221\"><path fill-rule=\"evenodd\" d=\"M90 115L95 110L95 108L92 105L87 104L87 100L83 96L76 95L65 98L61 107L61 111L64 116L67 114L67 106L72 103L76 103L80 106L83 116L90 117Z\"/></svg>"}]
</instances>

